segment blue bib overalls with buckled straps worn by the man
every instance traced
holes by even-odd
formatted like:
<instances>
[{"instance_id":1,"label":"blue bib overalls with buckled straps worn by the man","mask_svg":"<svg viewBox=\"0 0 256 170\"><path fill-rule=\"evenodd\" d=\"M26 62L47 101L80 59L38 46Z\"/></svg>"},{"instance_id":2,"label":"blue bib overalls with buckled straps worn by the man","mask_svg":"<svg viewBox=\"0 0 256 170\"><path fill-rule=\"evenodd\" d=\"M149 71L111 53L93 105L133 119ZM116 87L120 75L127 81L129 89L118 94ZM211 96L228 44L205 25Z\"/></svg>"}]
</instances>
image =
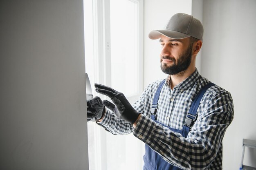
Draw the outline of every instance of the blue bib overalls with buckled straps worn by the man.
<instances>
[{"instance_id":1,"label":"blue bib overalls with buckled straps worn by the man","mask_svg":"<svg viewBox=\"0 0 256 170\"><path fill-rule=\"evenodd\" d=\"M165 83L165 79L161 82L161 84L159 85L159 87L157 88L157 91L155 93L154 99L153 99L153 104L151 107L151 116L150 118L153 119L155 122L161 124L159 121L156 120L156 112L157 112L157 102L159 99L159 95L160 92L162 90L162 87L164 86ZM195 122L195 120L197 119L197 110L198 107L200 105L200 101L205 93L205 91L207 91L207 89L211 86L213 86L215 84L213 83L209 83L207 85L205 85L200 91L199 93L196 95L193 103L191 104L191 107L189 109L189 113L186 117L186 121L185 124L183 125L182 130L178 130L178 129L174 129L171 127L168 127L164 124L162 124L162 126L165 126L169 129L171 129L174 132L179 132L180 134L182 134L183 137L187 137L189 131L191 130L191 127L193 126L193 123ZM168 163L167 161L165 161L162 157L160 157L160 155L155 152L153 149L151 149L148 145L145 144L145 155L143 157L144 159L144 167L143 170L182 170L176 166L171 165L170 163Z\"/></svg>"}]
</instances>

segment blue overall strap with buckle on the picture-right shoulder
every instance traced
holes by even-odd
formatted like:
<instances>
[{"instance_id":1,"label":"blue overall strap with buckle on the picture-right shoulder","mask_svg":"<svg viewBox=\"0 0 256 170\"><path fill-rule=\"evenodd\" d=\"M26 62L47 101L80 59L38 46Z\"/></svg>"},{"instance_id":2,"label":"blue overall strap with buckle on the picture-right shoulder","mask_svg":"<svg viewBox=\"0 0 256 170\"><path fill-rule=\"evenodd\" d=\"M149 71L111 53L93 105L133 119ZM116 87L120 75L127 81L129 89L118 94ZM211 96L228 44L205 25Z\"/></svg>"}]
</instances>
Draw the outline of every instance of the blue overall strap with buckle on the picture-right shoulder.
<instances>
[{"instance_id":1,"label":"blue overall strap with buckle on the picture-right shoulder","mask_svg":"<svg viewBox=\"0 0 256 170\"><path fill-rule=\"evenodd\" d=\"M207 91L208 88L210 88L211 86L214 86L214 85L215 84L213 84L213 83L209 83L209 84L203 86L201 88L201 90L198 92L198 94L195 96L195 99L193 100L193 102L190 106L189 113L186 116L186 121L183 126L183 129L185 128L185 129L191 130L191 127L193 126L195 120L197 119L198 115L196 114L196 112L200 105L201 99L204 96L204 93Z\"/></svg>"}]
</instances>

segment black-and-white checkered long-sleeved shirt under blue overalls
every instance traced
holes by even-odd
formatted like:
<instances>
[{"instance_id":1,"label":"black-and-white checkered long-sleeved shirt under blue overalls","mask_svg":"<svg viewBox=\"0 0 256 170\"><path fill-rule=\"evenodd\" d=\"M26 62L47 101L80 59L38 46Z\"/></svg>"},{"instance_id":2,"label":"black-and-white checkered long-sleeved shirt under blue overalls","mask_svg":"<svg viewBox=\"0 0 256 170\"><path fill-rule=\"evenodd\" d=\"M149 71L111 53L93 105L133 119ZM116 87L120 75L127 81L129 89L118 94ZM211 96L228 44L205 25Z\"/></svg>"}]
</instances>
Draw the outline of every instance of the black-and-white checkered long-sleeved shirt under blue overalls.
<instances>
[{"instance_id":1,"label":"black-and-white checkered long-sleeved shirt under blue overalls","mask_svg":"<svg viewBox=\"0 0 256 170\"><path fill-rule=\"evenodd\" d=\"M199 75L198 70L173 90L170 80L169 75L159 96L157 121L182 130L193 99L209 80ZM210 87L202 97L197 120L184 138L150 119L153 97L161 81L148 85L140 99L132 105L141 113L136 128L118 119L108 109L99 124L115 135L133 132L164 160L182 169L222 170L222 139L234 115L230 93L216 85Z\"/></svg>"}]
</instances>

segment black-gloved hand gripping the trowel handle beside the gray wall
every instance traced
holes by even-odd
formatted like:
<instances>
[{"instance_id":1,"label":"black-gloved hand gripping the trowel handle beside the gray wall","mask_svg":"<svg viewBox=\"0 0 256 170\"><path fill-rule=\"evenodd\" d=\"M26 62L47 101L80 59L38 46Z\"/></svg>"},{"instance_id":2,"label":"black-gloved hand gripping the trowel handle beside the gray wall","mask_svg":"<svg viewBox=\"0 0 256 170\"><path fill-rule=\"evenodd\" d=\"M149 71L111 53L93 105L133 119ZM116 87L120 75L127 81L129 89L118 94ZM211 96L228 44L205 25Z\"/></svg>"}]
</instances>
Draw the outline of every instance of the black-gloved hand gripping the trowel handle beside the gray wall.
<instances>
[{"instance_id":1,"label":"black-gloved hand gripping the trowel handle beside the gray wall","mask_svg":"<svg viewBox=\"0 0 256 170\"><path fill-rule=\"evenodd\" d=\"M87 100L87 121L102 119L105 113L105 106L98 96Z\"/></svg>"}]
</instances>

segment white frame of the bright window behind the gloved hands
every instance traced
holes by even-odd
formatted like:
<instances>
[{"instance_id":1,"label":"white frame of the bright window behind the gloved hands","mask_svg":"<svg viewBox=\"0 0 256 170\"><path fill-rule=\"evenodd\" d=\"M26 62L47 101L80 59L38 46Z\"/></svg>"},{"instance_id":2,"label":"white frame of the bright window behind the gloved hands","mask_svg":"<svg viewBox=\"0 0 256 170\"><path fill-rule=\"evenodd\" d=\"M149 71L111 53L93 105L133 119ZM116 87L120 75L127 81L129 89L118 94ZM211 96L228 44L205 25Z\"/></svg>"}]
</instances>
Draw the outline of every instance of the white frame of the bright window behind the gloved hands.
<instances>
[{"instance_id":1,"label":"white frame of the bright window behind the gloved hands","mask_svg":"<svg viewBox=\"0 0 256 170\"><path fill-rule=\"evenodd\" d=\"M85 0L84 0L85 1ZM111 43L110 43L110 0L91 0L93 4L93 27L94 27L94 82L105 84L106 86L111 86ZM143 91L143 6L144 6L144 0L130 0L132 2L138 3L138 15L139 19L137 20L139 35L138 35L138 86L137 86L137 94L133 96L127 97L129 102L135 102L137 99L139 99L139 96L141 95ZM86 26L86 25L85 25ZM98 73L98 74L95 74ZM94 82L91 82L92 85ZM93 88L93 86L92 86ZM106 97L103 95L99 95L102 99L105 99ZM95 165L95 168L97 170L106 170L106 157L107 157L107 151L106 151L106 133L107 131L100 126L94 126L94 130L96 134L94 137L94 141L97 141L97 144L95 144L96 147L96 153L95 153L95 159L98 160L97 164ZM132 134L130 134L132 135ZM138 145L138 139L134 137L134 139L131 139L129 135L124 136L129 141L130 147L136 147L136 150L138 150L138 153L135 153L135 159L137 162L134 162L140 170L143 166L142 156L144 153L144 144L141 142ZM140 142L140 141L139 141ZM128 147L128 146L127 146Z\"/></svg>"}]
</instances>

